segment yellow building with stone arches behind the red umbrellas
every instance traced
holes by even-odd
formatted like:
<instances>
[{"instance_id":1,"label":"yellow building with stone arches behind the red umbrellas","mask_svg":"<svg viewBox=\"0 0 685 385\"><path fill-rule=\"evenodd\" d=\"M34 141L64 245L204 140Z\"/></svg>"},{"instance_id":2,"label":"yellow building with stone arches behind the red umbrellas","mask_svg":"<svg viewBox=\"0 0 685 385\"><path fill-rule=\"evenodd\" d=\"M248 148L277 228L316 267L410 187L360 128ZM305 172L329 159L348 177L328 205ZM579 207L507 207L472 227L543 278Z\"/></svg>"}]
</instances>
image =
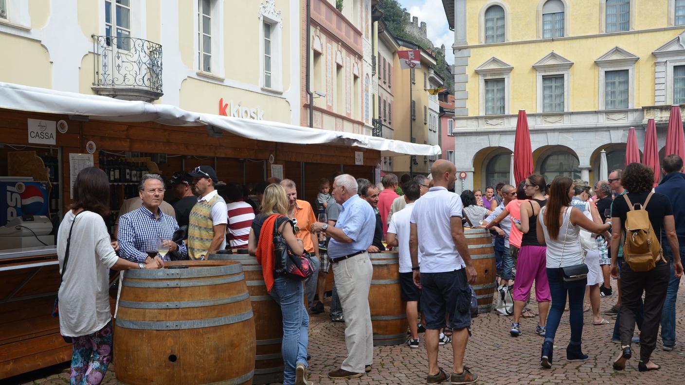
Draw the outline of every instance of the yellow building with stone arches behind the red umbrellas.
<instances>
[{"instance_id":1,"label":"yellow building with stone arches behind the red umbrellas","mask_svg":"<svg viewBox=\"0 0 685 385\"><path fill-rule=\"evenodd\" d=\"M455 162L465 188L510 179L516 114L535 171L599 179L623 166L629 127L665 142L685 103L685 1L443 0L455 30ZM595 171L595 172L593 172Z\"/></svg>"}]
</instances>

